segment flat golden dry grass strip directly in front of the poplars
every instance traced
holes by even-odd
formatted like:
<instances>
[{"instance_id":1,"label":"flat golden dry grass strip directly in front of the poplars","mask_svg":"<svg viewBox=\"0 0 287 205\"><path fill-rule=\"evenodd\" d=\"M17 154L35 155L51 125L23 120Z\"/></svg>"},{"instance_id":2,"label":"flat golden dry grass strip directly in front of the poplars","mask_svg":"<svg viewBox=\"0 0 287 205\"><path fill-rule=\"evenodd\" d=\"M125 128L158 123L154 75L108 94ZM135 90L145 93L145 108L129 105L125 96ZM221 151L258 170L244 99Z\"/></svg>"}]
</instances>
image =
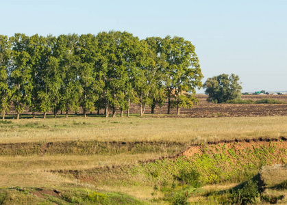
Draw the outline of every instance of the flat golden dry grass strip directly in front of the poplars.
<instances>
[{"instance_id":1,"label":"flat golden dry grass strip directly in front of the poplars","mask_svg":"<svg viewBox=\"0 0 287 205\"><path fill-rule=\"evenodd\" d=\"M1 124L0 143L27 141L179 141L287 136L287 116L254 118L68 118Z\"/></svg>"}]
</instances>

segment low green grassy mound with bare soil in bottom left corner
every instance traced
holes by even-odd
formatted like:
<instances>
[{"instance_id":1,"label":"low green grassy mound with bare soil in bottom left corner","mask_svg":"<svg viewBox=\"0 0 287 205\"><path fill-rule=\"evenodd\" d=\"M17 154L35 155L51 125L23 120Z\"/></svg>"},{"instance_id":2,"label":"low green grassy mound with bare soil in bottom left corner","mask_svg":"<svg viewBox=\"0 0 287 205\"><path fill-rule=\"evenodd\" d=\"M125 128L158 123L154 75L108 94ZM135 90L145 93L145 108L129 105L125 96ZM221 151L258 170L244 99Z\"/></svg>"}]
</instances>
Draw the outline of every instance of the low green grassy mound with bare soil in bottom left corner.
<instances>
[{"instance_id":1,"label":"low green grassy mound with bare soil in bottom left corner","mask_svg":"<svg viewBox=\"0 0 287 205\"><path fill-rule=\"evenodd\" d=\"M92 189L43 190L38 188L0 189L0 204L146 204L135 197L115 192L103 192Z\"/></svg>"}]
</instances>

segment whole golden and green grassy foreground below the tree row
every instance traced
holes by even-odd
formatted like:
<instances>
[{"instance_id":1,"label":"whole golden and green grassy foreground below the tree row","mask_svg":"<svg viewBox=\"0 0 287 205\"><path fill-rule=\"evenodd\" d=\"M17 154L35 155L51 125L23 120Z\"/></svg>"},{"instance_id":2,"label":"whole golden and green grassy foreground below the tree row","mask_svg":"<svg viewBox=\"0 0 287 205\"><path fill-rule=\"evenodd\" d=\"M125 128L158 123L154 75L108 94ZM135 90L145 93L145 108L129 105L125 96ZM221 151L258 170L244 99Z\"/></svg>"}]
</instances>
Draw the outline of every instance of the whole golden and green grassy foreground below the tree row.
<instances>
[{"instance_id":1,"label":"whole golden and green grassy foreground below the tree row","mask_svg":"<svg viewBox=\"0 0 287 205\"><path fill-rule=\"evenodd\" d=\"M230 148L224 151L223 143L218 149L209 147L209 155L203 151L192 159L161 157L176 156L190 144L208 141L287 137L287 116L153 116L107 119L90 115L65 119L60 115L45 120L27 116L28 119L1 121L0 202L2 197L7 204L17 204L16 198L26 204L116 204L119 196L114 195L124 193L121 197L129 199L124 204L169 204L188 192L193 195L189 202L211 203L213 198L206 195L210 191L247 180L263 165L274 163L274 158L286 162L286 152L278 151L282 146L274 151L269 143L262 145L262 153L249 146L249 150L236 150L233 156ZM262 156L270 156L270 160L264 158L262 163ZM192 178L197 172L199 178ZM199 188L197 182L203 187ZM211 184L221 188L214 190ZM66 193L65 197L53 197L54 189ZM178 195L171 199L171 193ZM90 194L99 200L90 200ZM8 197L14 197L14 201L7 201ZM75 197L74 201L71 197ZM216 197L220 204L221 196Z\"/></svg>"}]
</instances>

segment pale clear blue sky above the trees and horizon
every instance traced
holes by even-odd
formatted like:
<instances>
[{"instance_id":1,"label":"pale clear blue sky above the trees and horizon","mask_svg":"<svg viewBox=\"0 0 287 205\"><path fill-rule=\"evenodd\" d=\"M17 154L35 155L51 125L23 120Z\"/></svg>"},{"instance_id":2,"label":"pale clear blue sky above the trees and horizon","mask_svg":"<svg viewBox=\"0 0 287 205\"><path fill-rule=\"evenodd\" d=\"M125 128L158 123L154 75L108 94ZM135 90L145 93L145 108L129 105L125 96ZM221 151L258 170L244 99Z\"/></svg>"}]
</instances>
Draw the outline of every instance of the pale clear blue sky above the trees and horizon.
<instances>
[{"instance_id":1,"label":"pale clear blue sky above the trees and horizon","mask_svg":"<svg viewBox=\"0 0 287 205\"><path fill-rule=\"evenodd\" d=\"M286 0L0 0L0 10L1 35L179 36L195 45L203 83L234 73L242 92L287 90Z\"/></svg>"}]
</instances>

